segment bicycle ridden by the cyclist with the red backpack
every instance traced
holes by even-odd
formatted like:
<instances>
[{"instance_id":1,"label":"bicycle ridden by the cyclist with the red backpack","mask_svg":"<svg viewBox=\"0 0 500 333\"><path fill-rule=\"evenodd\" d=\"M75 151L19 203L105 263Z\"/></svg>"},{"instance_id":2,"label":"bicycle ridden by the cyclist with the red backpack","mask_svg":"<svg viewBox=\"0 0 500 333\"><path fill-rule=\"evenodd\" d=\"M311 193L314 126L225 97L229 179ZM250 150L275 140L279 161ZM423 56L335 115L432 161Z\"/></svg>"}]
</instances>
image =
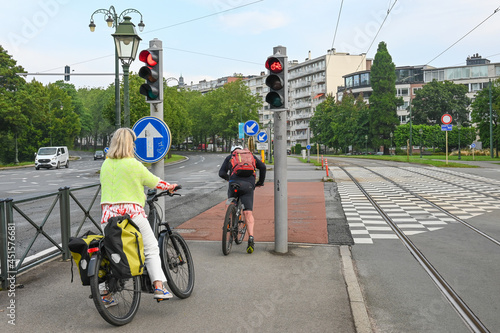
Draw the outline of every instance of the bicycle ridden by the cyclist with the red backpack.
<instances>
[{"instance_id":1,"label":"bicycle ridden by the cyclist with the red backpack","mask_svg":"<svg viewBox=\"0 0 500 333\"><path fill-rule=\"evenodd\" d=\"M227 199L228 207L222 227L222 253L226 256L231 252L233 240L237 245L241 244L247 232L247 225L243 216L245 207L238 195L240 185L238 183L230 183L229 185L232 191L236 192L236 197Z\"/></svg>"}]
</instances>

